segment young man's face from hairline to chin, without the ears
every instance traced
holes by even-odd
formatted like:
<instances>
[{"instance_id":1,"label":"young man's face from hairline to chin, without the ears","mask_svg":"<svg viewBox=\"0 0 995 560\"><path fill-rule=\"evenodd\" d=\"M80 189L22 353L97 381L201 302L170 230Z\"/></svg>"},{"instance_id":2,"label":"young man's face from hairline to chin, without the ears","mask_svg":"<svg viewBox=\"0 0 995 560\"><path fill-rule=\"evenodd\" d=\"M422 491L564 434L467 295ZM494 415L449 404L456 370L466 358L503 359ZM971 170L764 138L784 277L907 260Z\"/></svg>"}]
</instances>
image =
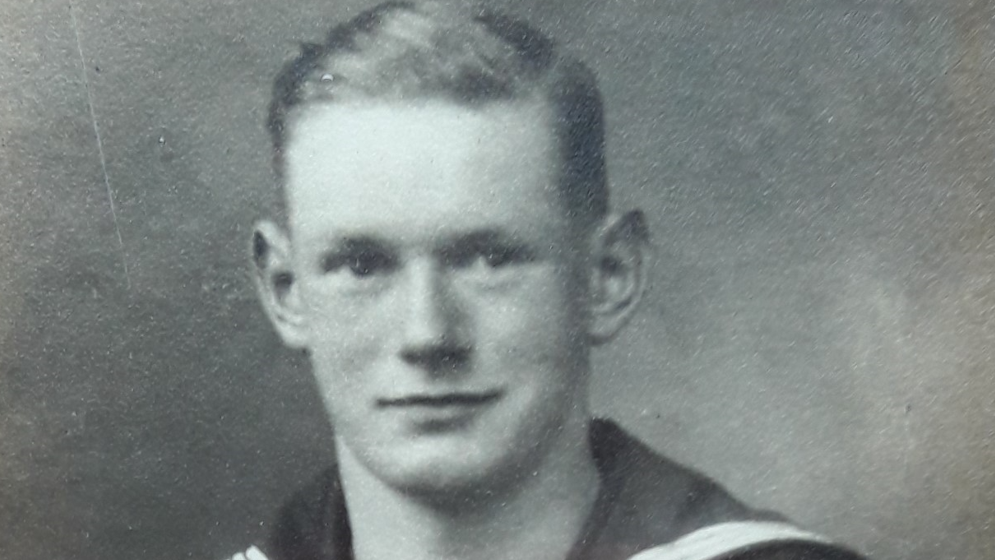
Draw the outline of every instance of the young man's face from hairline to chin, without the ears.
<instances>
[{"instance_id":1,"label":"young man's face from hairline to chin, without the ears","mask_svg":"<svg viewBox=\"0 0 995 560\"><path fill-rule=\"evenodd\" d=\"M304 111L290 299L340 453L408 491L531 472L587 417L587 243L547 107Z\"/></svg>"}]
</instances>

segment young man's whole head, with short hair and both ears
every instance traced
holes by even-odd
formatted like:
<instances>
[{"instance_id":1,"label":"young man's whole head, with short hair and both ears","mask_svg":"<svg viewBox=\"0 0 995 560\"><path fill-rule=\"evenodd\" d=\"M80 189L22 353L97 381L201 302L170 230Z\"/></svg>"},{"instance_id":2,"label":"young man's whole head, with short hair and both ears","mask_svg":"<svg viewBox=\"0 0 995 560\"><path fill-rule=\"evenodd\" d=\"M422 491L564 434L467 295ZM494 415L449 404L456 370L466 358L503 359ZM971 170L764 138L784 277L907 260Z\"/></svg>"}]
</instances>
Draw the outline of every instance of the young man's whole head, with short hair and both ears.
<instances>
[{"instance_id":1,"label":"young man's whole head, with short hair and both ears","mask_svg":"<svg viewBox=\"0 0 995 560\"><path fill-rule=\"evenodd\" d=\"M513 20L390 4L285 68L270 129L257 281L342 460L433 497L584 446L589 347L642 287L590 74Z\"/></svg>"}]
</instances>

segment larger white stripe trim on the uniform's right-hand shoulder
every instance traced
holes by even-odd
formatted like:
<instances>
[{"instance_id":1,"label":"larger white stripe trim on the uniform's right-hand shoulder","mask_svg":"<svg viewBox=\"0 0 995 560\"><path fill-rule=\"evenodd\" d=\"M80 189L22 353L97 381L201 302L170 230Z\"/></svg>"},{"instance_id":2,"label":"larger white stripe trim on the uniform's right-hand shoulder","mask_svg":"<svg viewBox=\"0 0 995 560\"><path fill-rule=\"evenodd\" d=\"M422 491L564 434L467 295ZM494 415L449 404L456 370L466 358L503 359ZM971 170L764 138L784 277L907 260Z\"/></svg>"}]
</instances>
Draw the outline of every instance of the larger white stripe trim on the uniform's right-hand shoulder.
<instances>
[{"instance_id":1,"label":"larger white stripe trim on the uniform's right-hand shoulder","mask_svg":"<svg viewBox=\"0 0 995 560\"><path fill-rule=\"evenodd\" d=\"M760 544L800 541L830 544L815 533L776 521L734 521L710 525L667 544L648 548L629 560L711 560Z\"/></svg>"}]
</instances>

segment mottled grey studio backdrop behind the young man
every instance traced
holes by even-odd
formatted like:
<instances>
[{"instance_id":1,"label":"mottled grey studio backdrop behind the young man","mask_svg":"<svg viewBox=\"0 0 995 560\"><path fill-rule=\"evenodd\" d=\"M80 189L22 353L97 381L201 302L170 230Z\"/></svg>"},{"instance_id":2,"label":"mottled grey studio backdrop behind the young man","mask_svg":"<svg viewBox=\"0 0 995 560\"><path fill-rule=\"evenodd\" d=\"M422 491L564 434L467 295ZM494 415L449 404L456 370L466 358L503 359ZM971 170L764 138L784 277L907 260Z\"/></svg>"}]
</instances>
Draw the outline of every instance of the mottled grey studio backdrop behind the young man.
<instances>
[{"instance_id":1,"label":"mottled grey studio backdrop behind the young man","mask_svg":"<svg viewBox=\"0 0 995 560\"><path fill-rule=\"evenodd\" d=\"M495 3L597 70L654 230L596 410L875 558L995 557L992 6ZM0 1L0 558L219 558L327 458L244 257L269 81L366 5Z\"/></svg>"}]
</instances>

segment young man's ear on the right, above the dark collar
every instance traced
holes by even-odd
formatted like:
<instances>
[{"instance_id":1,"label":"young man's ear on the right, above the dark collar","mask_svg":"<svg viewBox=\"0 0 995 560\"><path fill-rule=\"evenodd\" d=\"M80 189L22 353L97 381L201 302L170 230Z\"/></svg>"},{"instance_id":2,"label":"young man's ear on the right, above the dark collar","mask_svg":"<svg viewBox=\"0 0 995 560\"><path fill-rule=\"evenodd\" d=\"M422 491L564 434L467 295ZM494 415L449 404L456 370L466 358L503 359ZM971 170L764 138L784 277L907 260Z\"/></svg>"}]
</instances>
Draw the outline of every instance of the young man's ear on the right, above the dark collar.
<instances>
[{"instance_id":1,"label":"young man's ear on the right, above the dark collar","mask_svg":"<svg viewBox=\"0 0 995 560\"><path fill-rule=\"evenodd\" d=\"M608 216L594 233L588 322L593 344L614 338L638 308L647 238L646 222L638 210Z\"/></svg>"}]
</instances>

